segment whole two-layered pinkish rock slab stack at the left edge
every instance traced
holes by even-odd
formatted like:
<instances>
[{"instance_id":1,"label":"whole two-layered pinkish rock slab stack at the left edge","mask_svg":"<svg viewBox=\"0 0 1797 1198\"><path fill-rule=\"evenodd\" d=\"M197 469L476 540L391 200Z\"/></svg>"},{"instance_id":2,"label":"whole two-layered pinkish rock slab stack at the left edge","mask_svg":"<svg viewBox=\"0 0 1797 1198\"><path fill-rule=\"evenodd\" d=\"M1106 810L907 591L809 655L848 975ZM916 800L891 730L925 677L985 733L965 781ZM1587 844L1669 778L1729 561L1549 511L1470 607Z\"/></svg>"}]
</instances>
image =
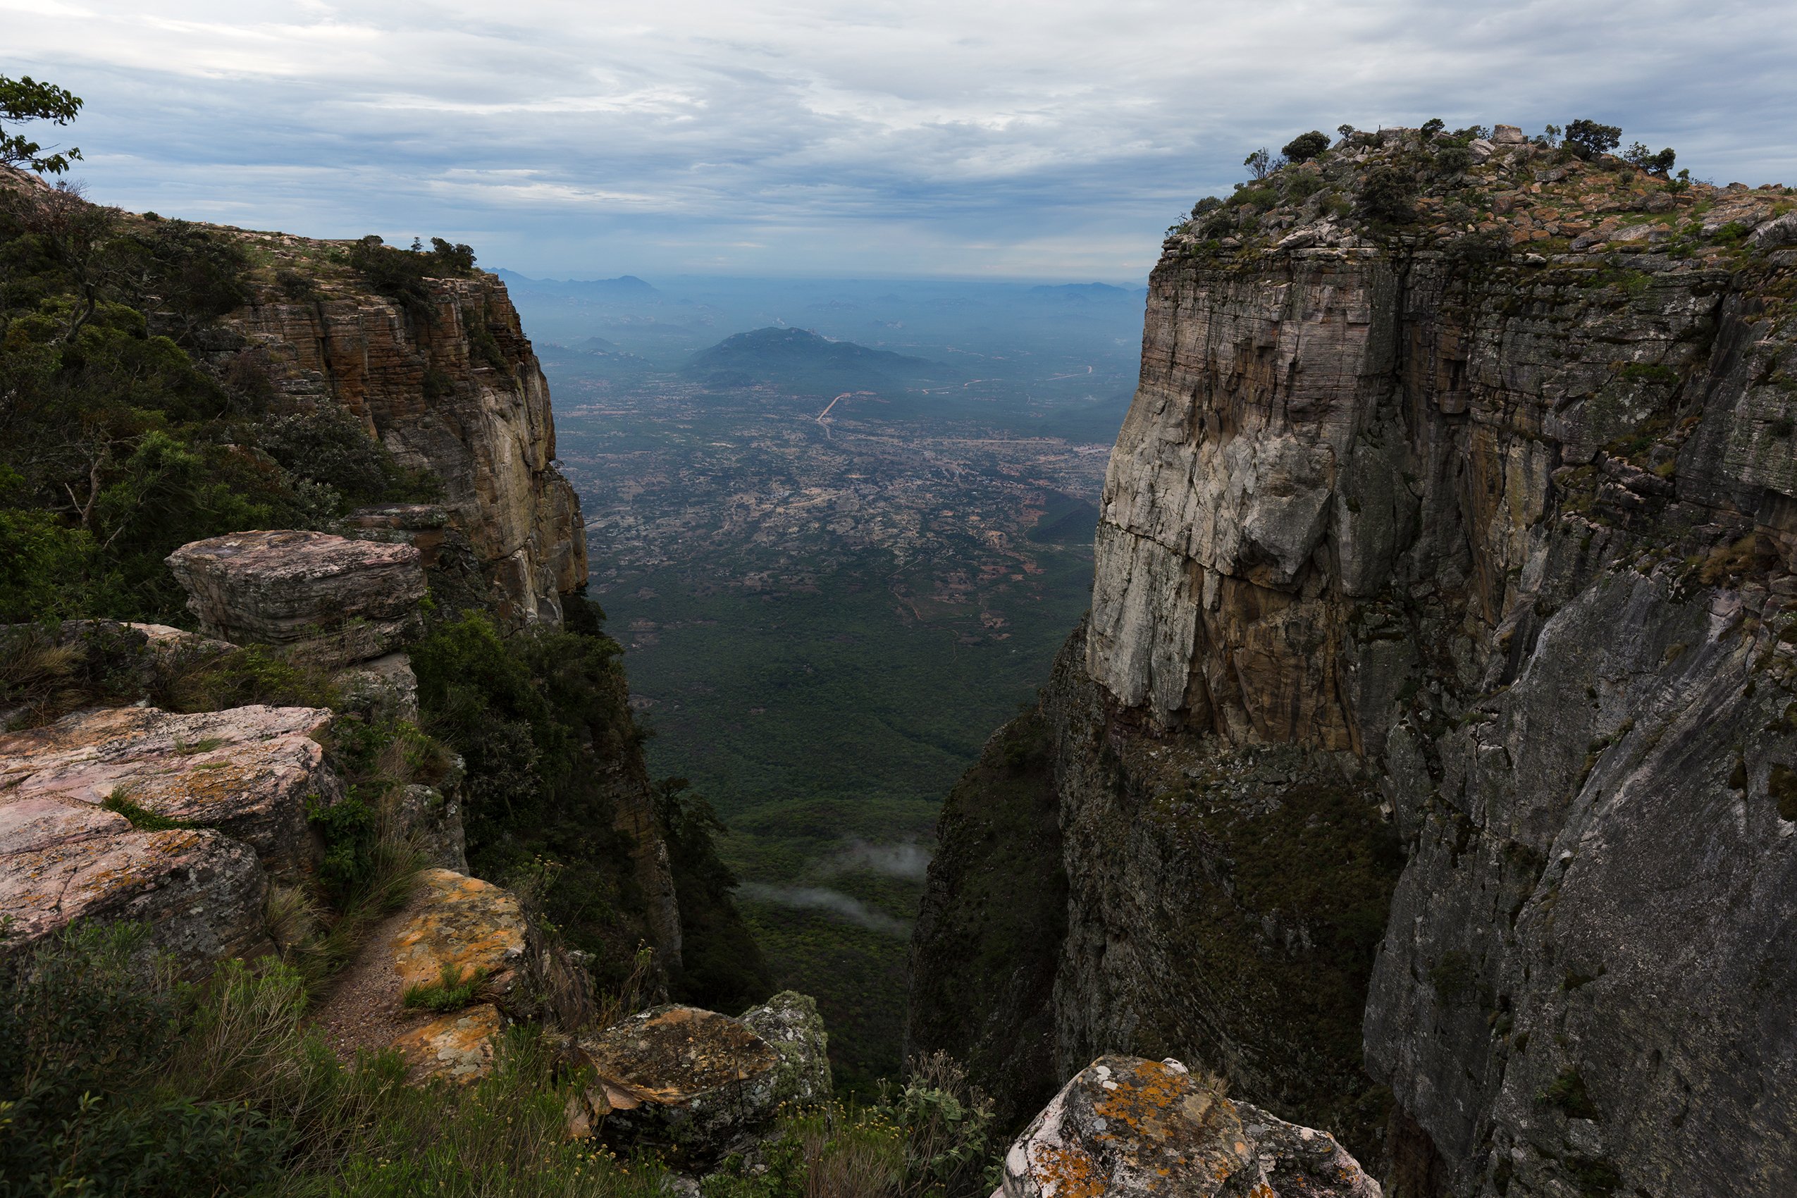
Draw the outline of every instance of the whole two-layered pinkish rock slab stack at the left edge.
<instances>
[{"instance_id":1,"label":"whole two-layered pinkish rock slab stack at the left edge","mask_svg":"<svg viewBox=\"0 0 1797 1198\"><path fill-rule=\"evenodd\" d=\"M270 876L314 869L307 805L341 796L313 740L329 722L113 708L0 736L0 945L104 918L149 923L190 966L266 950Z\"/></svg>"}]
</instances>

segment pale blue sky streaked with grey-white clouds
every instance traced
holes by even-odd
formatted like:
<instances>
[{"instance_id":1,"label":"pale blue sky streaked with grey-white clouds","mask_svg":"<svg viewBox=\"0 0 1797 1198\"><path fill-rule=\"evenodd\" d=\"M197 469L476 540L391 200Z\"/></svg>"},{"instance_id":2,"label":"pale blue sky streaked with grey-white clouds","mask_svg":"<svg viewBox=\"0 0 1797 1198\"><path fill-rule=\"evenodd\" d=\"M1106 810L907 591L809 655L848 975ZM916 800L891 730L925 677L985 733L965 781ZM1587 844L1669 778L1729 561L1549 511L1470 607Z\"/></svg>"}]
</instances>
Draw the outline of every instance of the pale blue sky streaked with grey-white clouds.
<instances>
[{"instance_id":1,"label":"pale blue sky streaked with grey-white clouds","mask_svg":"<svg viewBox=\"0 0 1797 1198\"><path fill-rule=\"evenodd\" d=\"M1306 129L1590 117L1797 183L1797 5L0 0L92 199L525 275L1139 284Z\"/></svg>"}]
</instances>

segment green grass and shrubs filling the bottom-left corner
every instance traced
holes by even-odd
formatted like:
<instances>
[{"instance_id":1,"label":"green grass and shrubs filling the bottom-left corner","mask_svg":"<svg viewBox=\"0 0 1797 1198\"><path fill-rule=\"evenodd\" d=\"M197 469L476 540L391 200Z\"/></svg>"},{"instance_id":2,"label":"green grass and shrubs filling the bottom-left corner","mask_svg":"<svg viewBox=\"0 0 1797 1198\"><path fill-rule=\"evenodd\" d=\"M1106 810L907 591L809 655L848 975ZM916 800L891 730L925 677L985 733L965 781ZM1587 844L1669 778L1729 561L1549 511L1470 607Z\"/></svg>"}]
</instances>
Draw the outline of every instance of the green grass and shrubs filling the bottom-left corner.
<instances>
[{"instance_id":1,"label":"green grass and shrubs filling the bottom-left corner","mask_svg":"<svg viewBox=\"0 0 1797 1198\"><path fill-rule=\"evenodd\" d=\"M0 1193L102 1198L652 1198L665 1171L568 1139L589 1076L532 1029L465 1087L340 1065L273 963L176 981L142 927L83 927L0 973Z\"/></svg>"}]
</instances>

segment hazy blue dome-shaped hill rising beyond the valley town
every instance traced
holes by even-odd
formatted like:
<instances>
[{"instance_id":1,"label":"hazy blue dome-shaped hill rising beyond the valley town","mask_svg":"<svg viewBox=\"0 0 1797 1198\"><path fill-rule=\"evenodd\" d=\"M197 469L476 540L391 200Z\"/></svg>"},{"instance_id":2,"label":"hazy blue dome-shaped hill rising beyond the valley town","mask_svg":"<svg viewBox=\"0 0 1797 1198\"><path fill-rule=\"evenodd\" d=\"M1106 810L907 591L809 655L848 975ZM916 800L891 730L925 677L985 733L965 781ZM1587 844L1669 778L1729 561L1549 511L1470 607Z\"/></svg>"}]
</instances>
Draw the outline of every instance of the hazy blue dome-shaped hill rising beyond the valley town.
<instances>
[{"instance_id":1,"label":"hazy blue dome-shaped hill rising beyond the valley town","mask_svg":"<svg viewBox=\"0 0 1797 1198\"><path fill-rule=\"evenodd\" d=\"M773 383L800 392L877 392L907 379L951 377L942 363L832 341L809 329L755 329L699 350L686 374L713 386Z\"/></svg>"}]
</instances>

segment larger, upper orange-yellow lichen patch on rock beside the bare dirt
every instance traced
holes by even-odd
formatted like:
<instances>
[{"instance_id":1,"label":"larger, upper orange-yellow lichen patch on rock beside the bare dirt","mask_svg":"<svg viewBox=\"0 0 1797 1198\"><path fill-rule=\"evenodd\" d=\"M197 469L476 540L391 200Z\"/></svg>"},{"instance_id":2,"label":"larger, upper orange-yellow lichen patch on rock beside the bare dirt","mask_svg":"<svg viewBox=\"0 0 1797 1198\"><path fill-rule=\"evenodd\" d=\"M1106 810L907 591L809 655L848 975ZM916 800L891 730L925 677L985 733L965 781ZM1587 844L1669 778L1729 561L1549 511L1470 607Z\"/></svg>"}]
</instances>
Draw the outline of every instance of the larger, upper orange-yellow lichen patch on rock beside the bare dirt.
<instances>
[{"instance_id":1,"label":"larger, upper orange-yellow lichen patch on rock beside the bare dirt","mask_svg":"<svg viewBox=\"0 0 1797 1198\"><path fill-rule=\"evenodd\" d=\"M483 973L489 990L505 993L525 957L525 936L516 894L451 869L426 869L392 941L399 990L438 982L449 966L456 977Z\"/></svg>"}]
</instances>

